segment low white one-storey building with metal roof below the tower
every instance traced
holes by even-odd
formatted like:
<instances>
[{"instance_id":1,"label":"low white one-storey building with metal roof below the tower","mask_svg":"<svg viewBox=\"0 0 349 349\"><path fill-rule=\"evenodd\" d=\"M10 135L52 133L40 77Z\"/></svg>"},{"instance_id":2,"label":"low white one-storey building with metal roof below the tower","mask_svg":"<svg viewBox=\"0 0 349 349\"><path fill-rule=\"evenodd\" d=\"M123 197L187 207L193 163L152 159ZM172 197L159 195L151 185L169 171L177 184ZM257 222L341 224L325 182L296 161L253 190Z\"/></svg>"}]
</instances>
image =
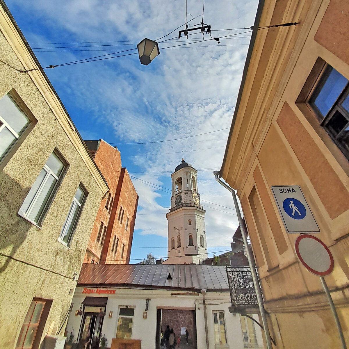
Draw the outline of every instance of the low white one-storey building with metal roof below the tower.
<instances>
[{"instance_id":1,"label":"low white one-storey building with metal roof below the tower","mask_svg":"<svg viewBox=\"0 0 349 349\"><path fill-rule=\"evenodd\" d=\"M87 349L103 337L114 349L163 349L167 325L177 349L263 348L260 328L230 304L223 266L84 264L67 332L73 342L93 333Z\"/></svg>"}]
</instances>

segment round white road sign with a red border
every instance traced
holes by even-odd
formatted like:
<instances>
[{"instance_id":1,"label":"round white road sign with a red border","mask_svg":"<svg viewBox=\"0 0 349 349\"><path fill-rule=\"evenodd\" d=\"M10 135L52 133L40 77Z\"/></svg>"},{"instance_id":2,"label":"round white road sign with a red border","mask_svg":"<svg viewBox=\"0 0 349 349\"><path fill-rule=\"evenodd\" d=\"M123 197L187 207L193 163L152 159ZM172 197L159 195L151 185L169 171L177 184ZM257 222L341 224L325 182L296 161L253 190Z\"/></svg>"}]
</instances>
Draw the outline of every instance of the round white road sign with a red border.
<instances>
[{"instance_id":1,"label":"round white road sign with a red border","mask_svg":"<svg viewBox=\"0 0 349 349\"><path fill-rule=\"evenodd\" d=\"M329 248L316 236L299 235L295 242L295 250L300 262L307 270L318 276L332 273L334 261Z\"/></svg>"}]
</instances>

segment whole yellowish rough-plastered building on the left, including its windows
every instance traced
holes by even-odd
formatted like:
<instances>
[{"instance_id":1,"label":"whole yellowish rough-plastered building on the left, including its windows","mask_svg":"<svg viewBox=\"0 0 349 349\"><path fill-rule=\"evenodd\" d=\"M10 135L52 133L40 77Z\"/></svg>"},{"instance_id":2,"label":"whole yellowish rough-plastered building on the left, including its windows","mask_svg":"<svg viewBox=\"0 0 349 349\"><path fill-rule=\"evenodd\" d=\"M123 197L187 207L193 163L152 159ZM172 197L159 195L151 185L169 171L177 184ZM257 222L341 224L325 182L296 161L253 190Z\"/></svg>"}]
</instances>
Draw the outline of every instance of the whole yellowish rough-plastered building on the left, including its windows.
<instances>
[{"instance_id":1,"label":"whole yellowish rough-plastered building on the left, including its windows","mask_svg":"<svg viewBox=\"0 0 349 349\"><path fill-rule=\"evenodd\" d=\"M1 348L62 334L108 186L0 2Z\"/></svg>"}]
</instances>

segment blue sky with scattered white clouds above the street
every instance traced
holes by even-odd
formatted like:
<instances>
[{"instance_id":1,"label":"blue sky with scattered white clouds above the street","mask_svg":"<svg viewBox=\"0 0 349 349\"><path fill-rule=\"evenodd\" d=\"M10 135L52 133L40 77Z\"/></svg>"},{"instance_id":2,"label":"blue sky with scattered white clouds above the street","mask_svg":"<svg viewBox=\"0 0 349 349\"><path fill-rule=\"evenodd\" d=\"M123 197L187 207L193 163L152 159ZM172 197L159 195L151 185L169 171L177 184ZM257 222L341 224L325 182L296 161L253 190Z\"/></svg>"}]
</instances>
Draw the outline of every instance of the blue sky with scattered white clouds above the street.
<instances>
[{"instance_id":1,"label":"blue sky with scattered white clouds above the street","mask_svg":"<svg viewBox=\"0 0 349 349\"><path fill-rule=\"evenodd\" d=\"M203 1L187 0L187 11L185 0L6 4L43 67L108 58L45 72L82 138L117 146L132 176L139 206L130 262L149 252L167 257L171 173L182 151L198 170L209 257L230 250L237 216L213 171L222 165L258 1L206 0L203 8ZM202 13L220 44L200 31L178 39L174 29L185 29L186 21L194 28ZM148 66L131 54L145 37L163 37L160 54ZM125 56L110 58L118 55Z\"/></svg>"}]
</instances>

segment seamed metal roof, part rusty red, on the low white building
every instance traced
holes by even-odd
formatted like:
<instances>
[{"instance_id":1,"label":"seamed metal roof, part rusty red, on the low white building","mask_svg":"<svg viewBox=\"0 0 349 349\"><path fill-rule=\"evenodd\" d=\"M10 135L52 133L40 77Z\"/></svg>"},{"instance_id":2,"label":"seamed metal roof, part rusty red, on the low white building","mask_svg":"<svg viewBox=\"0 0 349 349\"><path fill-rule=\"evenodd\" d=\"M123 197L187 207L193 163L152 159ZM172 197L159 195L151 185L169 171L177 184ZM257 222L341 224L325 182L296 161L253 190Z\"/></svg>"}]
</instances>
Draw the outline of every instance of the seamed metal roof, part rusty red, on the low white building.
<instances>
[{"instance_id":1,"label":"seamed metal roof, part rusty red, on the low white building","mask_svg":"<svg viewBox=\"0 0 349 349\"><path fill-rule=\"evenodd\" d=\"M83 264L78 285L229 291L225 266Z\"/></svg>"}]
</instances>

